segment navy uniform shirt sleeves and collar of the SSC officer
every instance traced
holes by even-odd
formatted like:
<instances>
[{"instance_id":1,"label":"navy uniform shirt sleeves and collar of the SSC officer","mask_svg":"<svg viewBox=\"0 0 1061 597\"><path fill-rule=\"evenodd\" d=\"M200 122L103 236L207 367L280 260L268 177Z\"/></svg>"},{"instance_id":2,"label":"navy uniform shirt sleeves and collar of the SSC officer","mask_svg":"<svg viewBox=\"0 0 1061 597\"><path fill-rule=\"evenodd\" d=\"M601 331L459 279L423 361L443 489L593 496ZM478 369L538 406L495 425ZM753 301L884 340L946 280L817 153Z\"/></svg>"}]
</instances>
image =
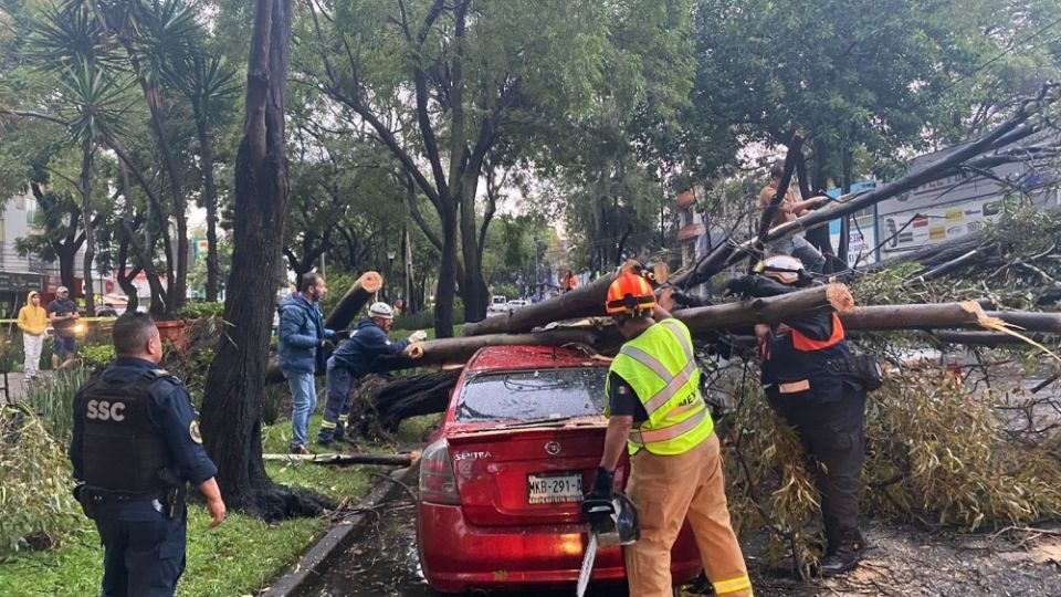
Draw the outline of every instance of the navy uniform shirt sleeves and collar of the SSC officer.
<instances>
[{"instance_id":1,"label":"navy uniform shirt sleeves and collar of the SSC officer","mask_svg":"<svg viewBox=\"0 0 1061 597\"><path fill-rule=\"evenodd\" d=\"M157 369L158 365L140 358L118 357L114 365L101 375L106 381L135 381L143 379L145 369ZM74 398L74 432L70 444L70 460L74 464L74 478L83 479L82 446L84 440L84 409L81 408L82 394ZM199 425L191 408L191 398L185 386L176 377L164 377L151 386L147 416L166 440L174 461L170 467L177 476L198 485L218 474L218 468L202 448Z\"/></svg>"}]
</instances>

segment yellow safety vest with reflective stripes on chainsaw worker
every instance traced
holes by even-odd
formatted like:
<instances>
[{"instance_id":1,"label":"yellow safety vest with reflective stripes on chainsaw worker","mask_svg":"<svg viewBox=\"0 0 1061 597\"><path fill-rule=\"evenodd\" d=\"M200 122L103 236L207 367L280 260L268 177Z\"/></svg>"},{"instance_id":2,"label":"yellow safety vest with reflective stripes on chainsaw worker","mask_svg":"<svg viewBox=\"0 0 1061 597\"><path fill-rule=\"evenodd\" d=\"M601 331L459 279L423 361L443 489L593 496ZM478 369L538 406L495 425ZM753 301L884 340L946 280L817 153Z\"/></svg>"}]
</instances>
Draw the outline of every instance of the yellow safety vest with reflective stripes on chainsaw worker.
<instances>
[{"instance_id":1,"label":"yellow safety vest with reflective stripes on chainsaw worker","mask_svg":"<svg viewBox=\"0 0 1061 597\"><path fill-rule=\"evenodd\" d=\"M609 396L612 373L630 385L649 415L630 432L631 455L642 448L653 454L681 454L711 436L715 423L700 395L693 339L682 322L663 320L622 345L605 384Z\"/></svg>"}]
</instances>

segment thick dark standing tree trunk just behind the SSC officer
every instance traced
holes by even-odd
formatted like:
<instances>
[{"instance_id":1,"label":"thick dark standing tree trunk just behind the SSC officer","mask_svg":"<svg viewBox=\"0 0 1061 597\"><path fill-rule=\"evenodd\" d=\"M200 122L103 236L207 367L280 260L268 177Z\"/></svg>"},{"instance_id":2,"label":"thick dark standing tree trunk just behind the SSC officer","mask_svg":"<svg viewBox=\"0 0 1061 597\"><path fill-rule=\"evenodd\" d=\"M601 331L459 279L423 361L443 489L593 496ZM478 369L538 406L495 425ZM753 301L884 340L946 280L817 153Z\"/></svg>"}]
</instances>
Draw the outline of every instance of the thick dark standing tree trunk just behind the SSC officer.
<instances>
[{"instance_id":1,"label":"thick dark standing tree trunk just behind the SSC officer","mask_svg":"<svg viewBox=\"0 0 1061 597\"><path fill-rule=\"evenodd\" d=\"M284 84L291 0L258 0L246 75L243 139L237 154L232 271L224 320L228 342L210 366L202 434L218 465L224 501L266 520L317 514L327 500L274 484L262 462L262 394L273 296L287 207ZM262 275L263 272L266 275Z\"/></svg>"}]
</instances>

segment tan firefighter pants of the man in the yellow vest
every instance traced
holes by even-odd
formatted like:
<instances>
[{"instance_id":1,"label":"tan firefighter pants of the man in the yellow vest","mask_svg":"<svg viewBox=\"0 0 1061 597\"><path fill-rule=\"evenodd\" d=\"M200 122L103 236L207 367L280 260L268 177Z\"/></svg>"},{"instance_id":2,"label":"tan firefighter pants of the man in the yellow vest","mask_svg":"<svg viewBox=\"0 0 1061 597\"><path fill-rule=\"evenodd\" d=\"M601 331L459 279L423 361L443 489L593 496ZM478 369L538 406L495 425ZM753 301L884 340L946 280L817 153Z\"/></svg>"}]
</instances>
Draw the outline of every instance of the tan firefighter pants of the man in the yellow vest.
<instances>
[{"instance_id":1,"label":"tan firefighter pants of the man in the yellow vest","mask_svg":"<svg viewBox=\"0 0 1061 597\"><path fill-rule=\"evenodd\" d=\"M631 597L671 597L671 546L687 517L715 593L750 597L740 545L729 526L722 455L714 433L677 455L630 457L627 494L641 516L641 538L626 548Z\"/></svg>"}]
</instances>

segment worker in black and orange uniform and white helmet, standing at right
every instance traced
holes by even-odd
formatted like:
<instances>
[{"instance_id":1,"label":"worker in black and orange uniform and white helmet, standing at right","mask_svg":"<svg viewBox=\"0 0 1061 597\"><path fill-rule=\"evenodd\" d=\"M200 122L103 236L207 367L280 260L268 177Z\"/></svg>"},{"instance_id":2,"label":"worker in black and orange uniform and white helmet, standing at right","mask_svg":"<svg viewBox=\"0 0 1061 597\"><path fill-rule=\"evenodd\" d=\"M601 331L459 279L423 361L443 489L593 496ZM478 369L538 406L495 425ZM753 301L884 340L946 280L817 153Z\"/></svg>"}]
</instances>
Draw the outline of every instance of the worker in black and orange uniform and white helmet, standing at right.
<instances>
[{"instance_id":1,"label":"worker in black and orange uniform and white helmet, standing at right","mask_svg":"<svg viewBox=\"0 0 1061 597\"><path fill-rule=\"evenodd\" d=\"M731 290L761 297L810 284L794 256L769 256L757 271L732 281ZM827 540L821 574L842 574L858 565L864 546L859 531L864 381L852 367L836 313L801 314L778 326L758 324L755 332L767 399L796 429L816 471Z\"/></svg>"}]
</instances>

